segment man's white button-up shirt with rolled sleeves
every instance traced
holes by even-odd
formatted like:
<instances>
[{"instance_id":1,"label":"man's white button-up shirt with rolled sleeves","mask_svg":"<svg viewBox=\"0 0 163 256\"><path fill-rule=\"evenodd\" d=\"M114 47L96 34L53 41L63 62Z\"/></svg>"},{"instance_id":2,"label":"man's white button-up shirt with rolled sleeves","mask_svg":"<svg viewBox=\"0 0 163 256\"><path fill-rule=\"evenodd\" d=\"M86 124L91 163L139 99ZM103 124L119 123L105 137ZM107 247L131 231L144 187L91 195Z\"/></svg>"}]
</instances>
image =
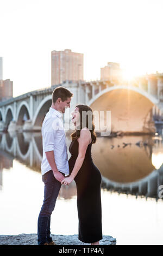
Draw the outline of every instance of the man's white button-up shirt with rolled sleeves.
<instances>
[{"instance_id":1,"label":"man's white button-up shirt with rolled sleeves","mask_svg":"<svg viewBox=\"0 0 163 256\"><path fill-rule=\"evenodd\" d=\"M41 174L45 174L47 171L52 170L46 158L45 152L54 151L54 159L57 165L58 171L64 172L69 175L68 155L66 147L66 135L65 129L62 123L62 114L49 108L43 123L42 123L42 147L43 156L41 163Z\"/></svg>"}]
</instances>

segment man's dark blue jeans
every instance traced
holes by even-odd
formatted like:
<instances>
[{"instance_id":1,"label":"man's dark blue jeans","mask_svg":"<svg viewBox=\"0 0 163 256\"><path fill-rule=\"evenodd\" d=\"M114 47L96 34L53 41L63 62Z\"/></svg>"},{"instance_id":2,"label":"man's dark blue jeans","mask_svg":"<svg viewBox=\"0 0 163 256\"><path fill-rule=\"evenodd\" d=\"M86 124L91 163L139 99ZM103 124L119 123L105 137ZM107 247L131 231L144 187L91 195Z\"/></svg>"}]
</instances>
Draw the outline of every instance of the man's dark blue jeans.
<instances>
[{"instance_id":1,"label":"man's dark blue jeans","mask_svg":"<svg viewBox=\"0 0 163 256\"><path fill-rule=\"evenodd\" d=\"M65 176L64 173L61 172ZM39 218L37 222L37 243L43 245L45 242L51 242L51 214L55 207L61 183L54 177L53 171L50 170L46 174L42 175L42 181L45 184L44 187L44 199Z\"/></svg>"}]
</instances>

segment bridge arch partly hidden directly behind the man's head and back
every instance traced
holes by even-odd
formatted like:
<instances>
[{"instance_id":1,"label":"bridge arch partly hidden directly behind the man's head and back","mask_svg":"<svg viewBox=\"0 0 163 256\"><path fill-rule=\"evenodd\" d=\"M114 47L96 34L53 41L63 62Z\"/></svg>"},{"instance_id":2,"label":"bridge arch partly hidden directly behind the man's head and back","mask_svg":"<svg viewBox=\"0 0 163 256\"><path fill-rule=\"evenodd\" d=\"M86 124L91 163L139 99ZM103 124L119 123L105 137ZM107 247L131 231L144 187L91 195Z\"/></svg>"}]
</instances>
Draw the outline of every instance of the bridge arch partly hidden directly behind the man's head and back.
<instances>
[{"instance_id":1,"label":"bridge arch partly hidden directly behind the man's head and back","mask_svg":"<svg viewBox=\"0 0 163 256\"><path fill-rule=\"evenodd\" d=\"M43 119L45 118L46 113L49 110L49 107L52 105L52 95L47 96L42 100L40 105L37 107L33 118L33 126L41 127Z\"/></svg>"}]
</instances>

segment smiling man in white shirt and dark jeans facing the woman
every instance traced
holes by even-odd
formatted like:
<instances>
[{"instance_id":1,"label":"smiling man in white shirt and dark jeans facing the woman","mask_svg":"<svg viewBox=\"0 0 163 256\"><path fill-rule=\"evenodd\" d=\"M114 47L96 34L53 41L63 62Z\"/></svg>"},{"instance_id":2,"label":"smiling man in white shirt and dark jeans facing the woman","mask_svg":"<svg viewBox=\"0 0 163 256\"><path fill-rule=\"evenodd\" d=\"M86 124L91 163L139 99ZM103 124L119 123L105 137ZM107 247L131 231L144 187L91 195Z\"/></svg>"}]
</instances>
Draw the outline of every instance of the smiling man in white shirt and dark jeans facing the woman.
<instances>
[{"instance_id":1,"label":"smiling man in white shirt and dark jeans facing the woman","mask_svg":"<svg viewBox=\"0 0 163 256\"><path fill-rule=\"evenodd\" d=\"M65 87L57 87L52 94L52 106L42 123L43 157L42 181L45 183L43 205L37 223L38 245L55 245L50 236L51 214L55 207L61 181L69 175L65 129L62 113L70 108L73 93Z\"/></svg>"}]
</instances>

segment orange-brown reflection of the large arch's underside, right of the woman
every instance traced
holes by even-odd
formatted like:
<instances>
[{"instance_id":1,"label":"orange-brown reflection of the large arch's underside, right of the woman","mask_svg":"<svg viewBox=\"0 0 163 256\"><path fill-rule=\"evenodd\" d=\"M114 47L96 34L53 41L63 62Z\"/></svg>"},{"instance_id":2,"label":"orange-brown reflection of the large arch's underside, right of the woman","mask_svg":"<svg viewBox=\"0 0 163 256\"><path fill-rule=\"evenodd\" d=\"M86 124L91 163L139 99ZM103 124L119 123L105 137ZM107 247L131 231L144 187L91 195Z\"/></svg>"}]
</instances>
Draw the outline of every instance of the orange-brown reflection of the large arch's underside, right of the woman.
<instances>
[{"instance_id":1,"label":"orange-brown reflection of the large arch's underside, right of the woman","mask_svg":"<svg viewBox=\"0 0 163 256\"><path fill-rule=\"evenodd\" d=\"M99 138L96 143L92 151L93 156L103 176L110 181L135 182L148 176L155 169L151 162L152 138Z\"/></svg>"}]
</instances>

